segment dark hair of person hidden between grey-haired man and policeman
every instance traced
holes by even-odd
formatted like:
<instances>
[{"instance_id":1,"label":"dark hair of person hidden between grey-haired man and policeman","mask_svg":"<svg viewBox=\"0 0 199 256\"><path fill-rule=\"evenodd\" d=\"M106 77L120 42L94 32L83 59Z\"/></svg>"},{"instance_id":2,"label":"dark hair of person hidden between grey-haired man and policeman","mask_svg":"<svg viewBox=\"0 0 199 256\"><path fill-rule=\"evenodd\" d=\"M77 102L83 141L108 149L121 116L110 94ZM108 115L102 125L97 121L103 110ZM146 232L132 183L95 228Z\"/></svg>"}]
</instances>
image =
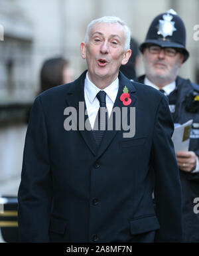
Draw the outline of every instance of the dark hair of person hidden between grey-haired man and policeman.
<instances>
[{"instance_id":1,"label":"dark hair of person hidden between grey-haired man and policeman","mask_svg":"<svg viewBox=\"0 0 199 256\"><path fill-rule=\"evenodd\" d=\"M135 73L135 61L139 55L139 48L137 41L131 37L131 42L130 42L130 49L131 49L131 57L128 61L127 64L121 65L120 70L123 72L125 76L129 79L134 79L136 77Z\"/></svg>"}]
</instances>

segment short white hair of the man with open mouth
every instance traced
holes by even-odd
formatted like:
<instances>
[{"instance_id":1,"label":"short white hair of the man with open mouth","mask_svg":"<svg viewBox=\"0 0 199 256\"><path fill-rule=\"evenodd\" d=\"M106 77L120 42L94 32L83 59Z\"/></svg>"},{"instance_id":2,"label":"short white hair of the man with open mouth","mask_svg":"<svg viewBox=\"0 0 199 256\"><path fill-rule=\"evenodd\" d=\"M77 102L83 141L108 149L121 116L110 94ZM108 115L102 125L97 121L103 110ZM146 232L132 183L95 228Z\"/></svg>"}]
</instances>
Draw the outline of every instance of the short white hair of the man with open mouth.
<instances>
[{"instance_id":1,"label":"short white hair of the man with open mouth","mask_svg":"<svg viewBox=\"0 0 199 256\"><path fill-rule=\"evenodd\" d=\"M114 17L114 16L104 16L99 19L94 19L93 21L91 21L88 24L88 27L86 29L85 39L84 39L86 45L88 45L90 31L92 30L92 27L94 27L94 25L97 23L119 23L120 25L122 25L124 28L124 33L125 33L124 50L127 51L128 49L130 49L131 31L130 31L129 27L127 27L127 25L124 21L122 21L118 17Z\"/></svg>"}]
</instances>

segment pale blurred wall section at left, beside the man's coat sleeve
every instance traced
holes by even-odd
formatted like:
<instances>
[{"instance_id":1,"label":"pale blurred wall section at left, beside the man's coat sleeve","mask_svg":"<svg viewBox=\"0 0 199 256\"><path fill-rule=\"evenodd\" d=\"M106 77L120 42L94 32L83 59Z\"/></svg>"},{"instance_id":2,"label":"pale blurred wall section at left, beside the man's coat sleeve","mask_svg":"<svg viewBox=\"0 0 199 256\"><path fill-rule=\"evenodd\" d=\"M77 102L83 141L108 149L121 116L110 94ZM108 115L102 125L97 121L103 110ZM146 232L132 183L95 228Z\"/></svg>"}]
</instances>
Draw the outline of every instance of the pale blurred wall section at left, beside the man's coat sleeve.
<instances>
[{"instance_id":1,"label":"pale blurred wall section at left, beside the man's coat sleeve","mask_svg":"<svg viewBox=\"0 0 199 256\"><path fill-rule=\"evenodd\" d=\"M0 195L17 195L27 125L0 127Z\"/></svg>"}]
</instances>

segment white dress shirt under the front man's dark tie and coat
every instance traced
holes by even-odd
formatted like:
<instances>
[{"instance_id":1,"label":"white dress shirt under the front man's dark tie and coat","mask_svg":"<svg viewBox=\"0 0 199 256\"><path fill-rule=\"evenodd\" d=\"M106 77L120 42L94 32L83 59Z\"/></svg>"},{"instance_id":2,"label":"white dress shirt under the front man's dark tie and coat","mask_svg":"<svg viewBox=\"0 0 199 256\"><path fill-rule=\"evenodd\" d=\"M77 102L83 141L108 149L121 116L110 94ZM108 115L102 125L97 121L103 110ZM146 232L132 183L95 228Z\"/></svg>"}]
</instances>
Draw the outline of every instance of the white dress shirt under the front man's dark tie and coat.
<instances>
[{"instance_id":1,"label":"white dress shirt under the front man's dark tie and coat","mask_svg":"<svg viewBox=\"0 0 199 256\"><path fill-rule=\"evenodd\" d=\"M117 92L119 89L119 79L118 77L106 88L103 90L106 93L105 101L106 107L108 110L109 117L111 115L113 104L115 103L115 99L117 96ZM96 116L98 114L98 110L100 108L100 102L96 95L100 92L100 88L98 88L88 77L88 72L86 73L86 79L84 82L84 98L86 102L86 109L88 113L88 118L90 121L90 125L92 129L94 128L94 123L96 120Z\"/></svg>"}]
</instances>

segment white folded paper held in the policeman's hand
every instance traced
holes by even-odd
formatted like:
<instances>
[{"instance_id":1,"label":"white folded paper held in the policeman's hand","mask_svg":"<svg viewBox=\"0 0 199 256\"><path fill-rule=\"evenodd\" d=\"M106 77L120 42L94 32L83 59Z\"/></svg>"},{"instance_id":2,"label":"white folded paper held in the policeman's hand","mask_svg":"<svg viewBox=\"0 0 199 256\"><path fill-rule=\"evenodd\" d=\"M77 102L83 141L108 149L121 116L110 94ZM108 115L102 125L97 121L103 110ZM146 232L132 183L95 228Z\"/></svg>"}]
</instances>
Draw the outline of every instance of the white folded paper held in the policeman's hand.
<instances>
[{"instance_id":1,"label":"white folded paper held in the policeman's hand","mask_svg":"<svg viewBox=\"0 0 199 256\"><path fill-rule=\"evenodd\" d=\"M174 133L172 134L175 152L188 151L192 122L193 120L189 120L184 124L175 125Z\"/></svg>"}]
</instances>

